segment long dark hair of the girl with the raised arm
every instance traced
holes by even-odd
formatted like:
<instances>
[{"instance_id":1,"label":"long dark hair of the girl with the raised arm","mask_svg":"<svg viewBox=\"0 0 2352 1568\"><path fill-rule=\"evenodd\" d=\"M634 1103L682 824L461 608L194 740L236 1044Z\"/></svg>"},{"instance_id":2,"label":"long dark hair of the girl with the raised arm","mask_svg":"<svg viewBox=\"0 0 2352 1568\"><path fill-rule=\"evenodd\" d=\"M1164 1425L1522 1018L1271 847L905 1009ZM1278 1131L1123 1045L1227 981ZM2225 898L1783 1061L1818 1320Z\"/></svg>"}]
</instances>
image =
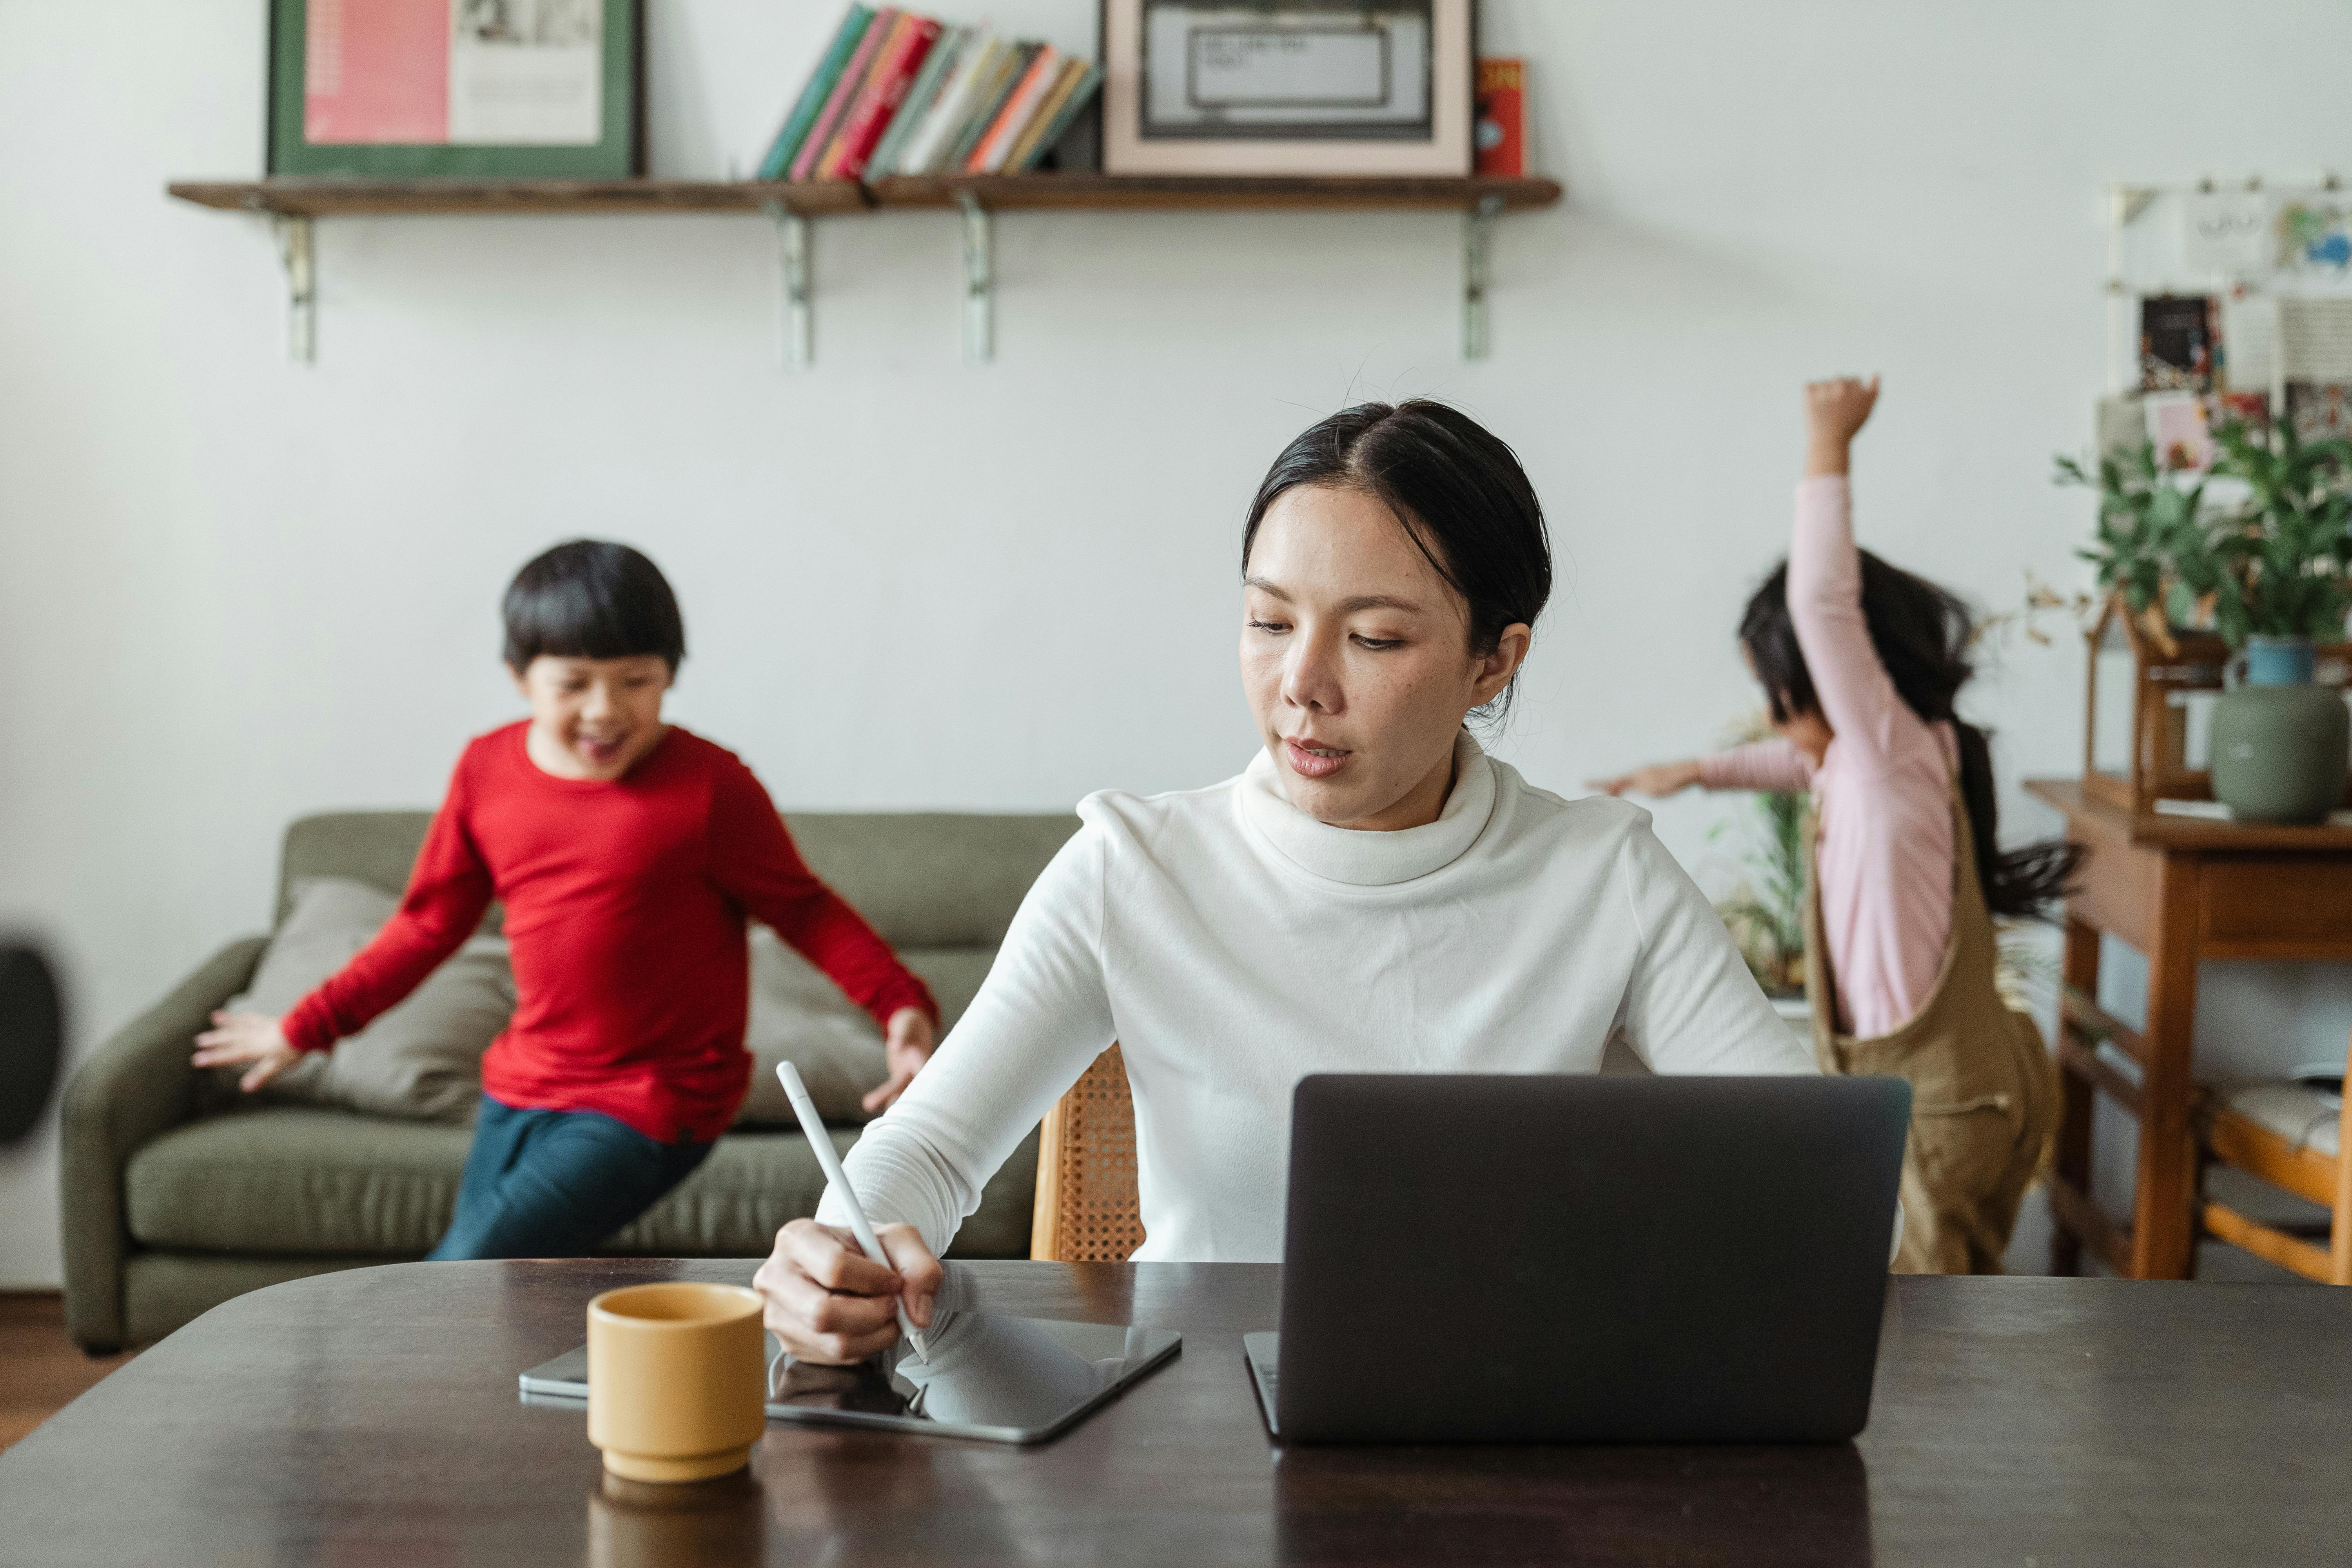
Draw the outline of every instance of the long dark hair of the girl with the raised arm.
<instances>
[{"instance_id":1,"label":"long dark hair of the girl with the raised arm","mask_svg":"<svg viewBox=\"0 0 2352 1568\"><path fill-rule=\"evenodd\" d=\"M1976 835L1976 879L1985 889L1985 905L1994 914L2049 917L2049 905L2065 896L2082 867L2084 851L2065 839L2002 851L1994 837L1999 804L1992 795L1992 743L1983 729L1962 722L1952 710L1952 698L1976 675L1976 665L1969 663L1976 616L1936 583L1889 567L1870 550L1858 555L1863 621L1896 693L1924 722L1945 722L1959 738L1959 797L1969 806L1969 832ZM1740 646L1764 682L1773 722L1785 724L1790 717L1820 712L1813 672L1804 665L1797 625L1788 616L1788 562L1773 567L1748 599Z\"/></svg>"}]
</instances>

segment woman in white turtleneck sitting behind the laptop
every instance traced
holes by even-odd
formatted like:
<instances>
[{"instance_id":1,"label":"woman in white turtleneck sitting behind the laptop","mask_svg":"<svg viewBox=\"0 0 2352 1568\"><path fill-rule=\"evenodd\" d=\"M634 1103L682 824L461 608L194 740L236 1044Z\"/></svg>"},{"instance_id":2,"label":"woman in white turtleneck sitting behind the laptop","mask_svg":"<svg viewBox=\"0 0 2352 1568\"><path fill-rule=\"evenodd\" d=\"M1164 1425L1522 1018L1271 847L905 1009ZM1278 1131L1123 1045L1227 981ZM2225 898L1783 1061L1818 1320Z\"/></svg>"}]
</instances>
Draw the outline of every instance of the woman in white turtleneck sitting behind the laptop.
<instances>
[{"instance_id":1,"label":"woman in white turtleneck sitting behind the laptop","mask_svg":"<svg viewBox=\"0 0 2352 1568\"><path fill-rule=\"evenodd\" d=\"M1611 1037L1656 1072L1813 1072L1642 811L1536 790L1463 729L1550 588L1536 491L1465 414L1364 404L1291 442L1242 534L1263 750L1080 802L971 1011L849 1154L891 1267L828 1197L760 1267L776 1338L868 1356L894 1295L929 1324L936 1253L1112 1041L1145 1260L1279 1260L1310 1072L1597 1072Z\"/></svg>"}]
</instances>

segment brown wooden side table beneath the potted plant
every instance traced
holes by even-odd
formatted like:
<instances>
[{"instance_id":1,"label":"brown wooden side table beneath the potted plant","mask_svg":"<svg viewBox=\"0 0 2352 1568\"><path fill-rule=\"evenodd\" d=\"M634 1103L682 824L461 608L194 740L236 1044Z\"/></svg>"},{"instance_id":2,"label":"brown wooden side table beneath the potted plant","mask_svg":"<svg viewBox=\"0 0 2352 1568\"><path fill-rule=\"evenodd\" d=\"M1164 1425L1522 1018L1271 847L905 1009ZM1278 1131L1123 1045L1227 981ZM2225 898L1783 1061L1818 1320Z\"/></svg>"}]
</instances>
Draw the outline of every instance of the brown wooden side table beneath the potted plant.
<instances>
[{"instance_id":1,"label":"brown wooden side table beneath the potted plant","mask_svg":"<svg viewBox=\"0 0 2352 1568\"><path fill-rule=\"evenodd\" d=\"M2117 1274L2187 1279L2194 1258L2197 1150L2190 1110L2201 959L2352 959L2352 827L2272 827L2124 811L2082 780L2039 778L2030 795L2065 813L2089 846L2065 905L2058 1065L2065 1119L2051 1173L2051 1265L2082 1267L2091 1246ZM2147 954L2147 1027L2098 1006L2100 933ZM2112 1041L2133 1063L2100 1058ZM2140 1119L2131 1225L2091 1201L2091 1105L2105 1093Z\"/></svg>"}]
</instances>

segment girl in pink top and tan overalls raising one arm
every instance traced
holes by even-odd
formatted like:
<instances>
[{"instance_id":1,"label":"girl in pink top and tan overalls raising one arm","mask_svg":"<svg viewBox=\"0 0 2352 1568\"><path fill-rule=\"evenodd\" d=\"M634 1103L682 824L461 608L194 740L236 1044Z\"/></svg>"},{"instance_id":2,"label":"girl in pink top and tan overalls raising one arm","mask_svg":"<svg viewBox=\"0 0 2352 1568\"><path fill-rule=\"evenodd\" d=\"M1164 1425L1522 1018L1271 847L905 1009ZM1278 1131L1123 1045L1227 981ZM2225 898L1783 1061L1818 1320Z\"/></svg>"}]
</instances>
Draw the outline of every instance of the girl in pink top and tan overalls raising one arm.
<instances>
[{"instance_id":1,"label":"girl in pink top and tan overalls raising one arm","mask_svg":"<svg viewBox=\"0 0 2352 1568\"><path fill-rule=\"evenodd\" d=\"M2079 851L1994 839L1992 752L1952 696L1969 609L1853 548L1846 454L1879 383L1804 388L1797 531L1740 618L1778 741L1599 780L1609 795L1813 792L1804 990L1823 1072L1912 1084L1907 1274L1999 1274L2058 1117L2042 1034L1994 987L1994 914L2039 914Z\"/></svg>"}]
</instances>

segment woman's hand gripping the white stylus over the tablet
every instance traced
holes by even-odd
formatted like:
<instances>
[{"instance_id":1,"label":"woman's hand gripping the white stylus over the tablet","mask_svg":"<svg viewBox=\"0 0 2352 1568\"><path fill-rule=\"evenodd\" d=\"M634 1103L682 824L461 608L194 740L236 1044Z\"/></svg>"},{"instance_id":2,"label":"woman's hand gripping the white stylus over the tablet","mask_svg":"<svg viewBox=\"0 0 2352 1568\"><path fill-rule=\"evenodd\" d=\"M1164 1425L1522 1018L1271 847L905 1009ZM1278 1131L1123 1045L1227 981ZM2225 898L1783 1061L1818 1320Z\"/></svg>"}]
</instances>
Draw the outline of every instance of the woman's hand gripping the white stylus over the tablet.
<instances>
[{"instance_id":1,"label":"woman's hand gripping the white stylus over the tablet","mask_svg":"<svg viewBox=\"0 0 2352 1568\"><path fill-rule=\"evenodd\" d=\"M793 1220L753 1274L767 1302L767 1331L800 1361L847 1366L898 1340L898 1298L915 1328L931 1326L931 1302L948 1272L913 1225L877 1225L889 1262L858 1251L856 1237L816 1220Z\"/></svg>"}]
</instances>

